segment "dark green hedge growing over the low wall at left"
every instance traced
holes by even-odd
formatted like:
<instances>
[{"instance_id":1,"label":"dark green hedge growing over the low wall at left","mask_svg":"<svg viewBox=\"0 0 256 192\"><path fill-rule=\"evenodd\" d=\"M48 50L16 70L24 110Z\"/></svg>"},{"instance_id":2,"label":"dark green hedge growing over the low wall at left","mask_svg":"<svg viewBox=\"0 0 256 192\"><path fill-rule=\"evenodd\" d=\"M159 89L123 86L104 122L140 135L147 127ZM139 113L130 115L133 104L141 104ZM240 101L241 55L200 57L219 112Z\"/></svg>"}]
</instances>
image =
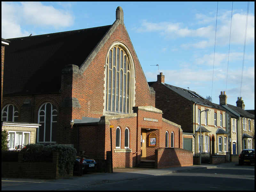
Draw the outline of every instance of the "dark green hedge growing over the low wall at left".
<instances>
[{"instance_id":1,"label":"dark green hedge growing over the low wall at left","mask_svg":"<svg viewBox=\"0 0 256 192\"><path fill-rule=\"evenodd\" d=\"M76 149L61 144L42 145L42 144L28 144L21 149L24 152L23 161L52 161L52 153L60 152L59 155L59 174L70 174L73 170L73 165L76 160Z\"/></svg>"}]
</instances>

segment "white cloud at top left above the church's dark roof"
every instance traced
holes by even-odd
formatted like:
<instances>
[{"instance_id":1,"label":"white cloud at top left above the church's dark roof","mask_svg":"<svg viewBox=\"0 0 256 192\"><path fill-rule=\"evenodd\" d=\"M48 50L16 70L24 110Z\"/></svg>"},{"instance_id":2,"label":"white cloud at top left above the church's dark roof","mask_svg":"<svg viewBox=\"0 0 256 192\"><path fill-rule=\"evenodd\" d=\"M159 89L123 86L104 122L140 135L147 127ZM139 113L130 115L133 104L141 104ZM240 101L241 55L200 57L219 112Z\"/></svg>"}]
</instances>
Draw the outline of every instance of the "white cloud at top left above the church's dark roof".
<instances>
[{"instance_id":1,"label":"white cloud at top left above the church's dark roof","mask_svg":"<svg viewBox=\"0 0 256 192\"><path fill-rule=\"evenodd\" d=\"M57 10L40 2L2 2L2 38L28 36L39 27L58 29L71 26L74 19L69 11ZM30 32L28 25L32 26Z\"/></svg>"}]
</instances>

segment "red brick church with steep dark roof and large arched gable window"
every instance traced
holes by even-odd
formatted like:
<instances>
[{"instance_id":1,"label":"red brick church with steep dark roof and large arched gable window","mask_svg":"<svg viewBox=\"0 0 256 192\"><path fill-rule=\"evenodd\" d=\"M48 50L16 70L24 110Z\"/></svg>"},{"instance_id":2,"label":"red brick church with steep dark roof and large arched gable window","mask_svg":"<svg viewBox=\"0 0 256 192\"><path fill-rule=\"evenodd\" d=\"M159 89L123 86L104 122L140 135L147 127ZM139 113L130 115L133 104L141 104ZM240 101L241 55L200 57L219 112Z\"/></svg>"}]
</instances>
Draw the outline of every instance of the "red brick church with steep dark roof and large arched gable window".
<instances>
[{"instance_id":1,"label":"red brick church with steep dark roof and large arched gable window","mask_svg":"<svg viewBox=\"0 0 256 192\"><path fill-rule=\"evenodd\" d=\"M3 122L40 124L36 143L73 146L104 171L193 164L182 127L155 108L121 7L113 25L7 40Z\"/></svg>"}]
</instances>

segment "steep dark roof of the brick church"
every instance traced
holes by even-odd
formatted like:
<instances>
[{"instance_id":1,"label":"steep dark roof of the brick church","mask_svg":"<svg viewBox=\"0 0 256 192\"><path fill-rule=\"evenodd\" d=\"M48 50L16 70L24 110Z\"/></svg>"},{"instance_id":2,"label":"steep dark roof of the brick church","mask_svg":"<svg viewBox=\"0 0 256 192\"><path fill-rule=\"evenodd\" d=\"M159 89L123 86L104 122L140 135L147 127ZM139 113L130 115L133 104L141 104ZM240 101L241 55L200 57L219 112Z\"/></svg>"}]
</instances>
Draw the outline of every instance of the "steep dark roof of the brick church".
<instances>
[{"instance_id":1,"label":"steep dark roof of the brick church","mask_svg":"<svg viewBox=\"0 0 256 192\"><path fill-rule=\"evenodd\" d=\"M7 39L3 96L60 92L61 70L80 67L111 26Z\"/></svg>"}]
</instances>

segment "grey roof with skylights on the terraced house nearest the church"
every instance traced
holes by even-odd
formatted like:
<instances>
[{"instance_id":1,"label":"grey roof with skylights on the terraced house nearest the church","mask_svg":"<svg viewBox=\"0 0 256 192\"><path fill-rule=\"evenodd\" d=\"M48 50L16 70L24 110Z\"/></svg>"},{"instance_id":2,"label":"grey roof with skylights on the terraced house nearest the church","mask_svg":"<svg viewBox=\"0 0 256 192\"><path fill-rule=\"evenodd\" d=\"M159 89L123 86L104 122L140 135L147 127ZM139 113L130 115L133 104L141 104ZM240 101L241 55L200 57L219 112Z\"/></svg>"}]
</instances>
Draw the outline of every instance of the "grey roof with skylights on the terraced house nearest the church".
<instances>
[{"instance_id":1,"label":"grey roof with skylights on the terraced house nearest the church","mask_svg":"<svg viewBox=\"0 0 256 192\"><path fill-rule=\"evenodd\" d=\"M155 82L148 82L148 85L151 86L154 83ZM176 92L180 96L188 99L189 101L192 101L193 103L203 105L203 106L206 106L206 107L211 107L211 108L218 109L218 110L226 111L223 107L221 107L221 105L210 102L209 100L207 100L204 97L197 94L195 91L191 91L191 90L188 90L188 89L183 89L183 88L176 87L176 86L173 86L173 85L169 85L169 84L166 84L166 83L162 83L162 84L164 86L166 86L167 88L171 89L172 91Z\"/></svg>"}]
</instances>

